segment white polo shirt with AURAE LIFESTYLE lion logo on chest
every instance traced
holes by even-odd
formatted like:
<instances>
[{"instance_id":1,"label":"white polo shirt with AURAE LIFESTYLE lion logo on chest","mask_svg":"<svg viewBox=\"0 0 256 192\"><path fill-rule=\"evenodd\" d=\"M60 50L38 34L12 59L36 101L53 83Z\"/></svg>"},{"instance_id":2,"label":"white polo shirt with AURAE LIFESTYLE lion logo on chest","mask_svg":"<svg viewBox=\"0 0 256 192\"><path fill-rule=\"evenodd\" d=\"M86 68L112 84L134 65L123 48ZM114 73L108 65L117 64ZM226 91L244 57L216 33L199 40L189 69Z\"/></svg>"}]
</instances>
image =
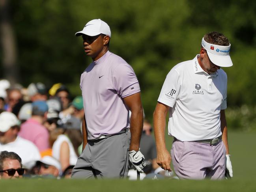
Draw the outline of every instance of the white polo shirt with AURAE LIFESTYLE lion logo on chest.
<instances>
[{"instance_id":1,"label":"white polo shirt with AURAE LIFESTYLE lion logo on chest","mask_svg":"<svg viewBox=\"0 0 256 192\"><path fill-rule=\"evenodd\" d=\"M227 75L206 73L193 60L179 63L166 76L157 101L170 106L168 134L181 141L220 136L220 110L226 108Z\"/></svg>"}]
</instances>

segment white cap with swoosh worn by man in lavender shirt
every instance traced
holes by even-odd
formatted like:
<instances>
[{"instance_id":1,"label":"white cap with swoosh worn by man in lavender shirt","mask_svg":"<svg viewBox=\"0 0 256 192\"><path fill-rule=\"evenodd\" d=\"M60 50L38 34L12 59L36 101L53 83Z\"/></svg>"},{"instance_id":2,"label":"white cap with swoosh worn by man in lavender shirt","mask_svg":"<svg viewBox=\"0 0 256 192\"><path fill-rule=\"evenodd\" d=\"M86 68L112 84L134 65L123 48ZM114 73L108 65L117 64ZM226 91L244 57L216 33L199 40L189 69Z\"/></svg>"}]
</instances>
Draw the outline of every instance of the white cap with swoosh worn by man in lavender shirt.
<instances>
[{"instance_id":1,"label":"white cap with swoosh worn by man in lavender shirt","mask_svg":"<svg viewBox=\"0 0 256 192\"><path fill-rule=\"evenodd\" d=\"M77 32L75 36L80 36L82 34L89 36L105 34L111 37L111 32L108 24L104 21L101 21L101 19L93 19L92 21L89 21L88 23L86 23L83 30Z\"/></svg>"}]
</instances>

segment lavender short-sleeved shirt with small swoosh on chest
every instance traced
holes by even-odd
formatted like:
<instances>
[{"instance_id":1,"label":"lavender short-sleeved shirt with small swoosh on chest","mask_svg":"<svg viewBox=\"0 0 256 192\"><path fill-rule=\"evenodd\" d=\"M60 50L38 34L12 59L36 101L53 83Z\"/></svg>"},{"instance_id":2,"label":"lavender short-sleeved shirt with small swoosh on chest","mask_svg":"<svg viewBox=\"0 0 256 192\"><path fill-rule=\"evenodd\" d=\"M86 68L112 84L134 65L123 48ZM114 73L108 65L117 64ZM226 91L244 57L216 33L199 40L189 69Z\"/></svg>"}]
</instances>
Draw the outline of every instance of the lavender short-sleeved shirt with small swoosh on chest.
<instances>
[{"instance_id":1,"label":"lavender short-sleeved shirt with small swoosh on chest","mask_svg":"<svg viewBox=\"0 0 256 192\"><path fill-rule=\"evenodd\" d=\"M130 127L123 98L140 92L140 86L125 60L108 51L82 73L80 88L88 140Z\"/></svg>"}]
</instances>

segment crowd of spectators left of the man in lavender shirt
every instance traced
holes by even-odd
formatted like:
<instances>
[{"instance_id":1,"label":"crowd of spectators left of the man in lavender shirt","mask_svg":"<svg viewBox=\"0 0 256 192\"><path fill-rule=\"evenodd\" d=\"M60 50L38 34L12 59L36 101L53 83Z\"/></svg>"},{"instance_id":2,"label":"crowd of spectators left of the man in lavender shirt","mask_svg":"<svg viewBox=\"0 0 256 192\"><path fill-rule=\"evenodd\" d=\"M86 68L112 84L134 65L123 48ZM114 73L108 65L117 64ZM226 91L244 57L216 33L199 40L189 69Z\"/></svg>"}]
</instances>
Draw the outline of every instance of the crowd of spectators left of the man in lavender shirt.
<instances>
[{"instance_id":1,"label":"crowd of spectators left of the man in lavender shirt","mask_svg":"<svg viewBox=\"0 0 256 192\"><path fill-rule=\"evenodd\" d=\"M0 178L69 178L82 152L82 96L61 83L0 80Z\"/></svg>"}]
</instances>

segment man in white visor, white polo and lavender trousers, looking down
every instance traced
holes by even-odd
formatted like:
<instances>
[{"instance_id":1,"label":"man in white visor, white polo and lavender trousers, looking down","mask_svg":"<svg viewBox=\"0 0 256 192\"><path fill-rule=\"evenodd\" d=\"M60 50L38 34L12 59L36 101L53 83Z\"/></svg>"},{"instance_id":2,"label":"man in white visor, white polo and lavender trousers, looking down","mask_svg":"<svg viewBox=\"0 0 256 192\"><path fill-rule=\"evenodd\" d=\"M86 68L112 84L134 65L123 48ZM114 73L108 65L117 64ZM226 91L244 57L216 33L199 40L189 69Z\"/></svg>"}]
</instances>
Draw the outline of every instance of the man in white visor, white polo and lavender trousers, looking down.
<instances>
[{"instance_id":1,"label":"man in white visor, white polo and lavender trousers, looking down","mask_svg":"<svg viewBox=\"0 0 256 192\"><path fill-rule=\"evenodd\" d=\"M153 115L157 163L180 179L233 176L225 117L230 42L218 32L204 35L200 54L179 63L166 76ZM171 156L165 147L165 118L174 137ZM172 157L172 158L171 158Z\"/></svg>"}]
</instances>

